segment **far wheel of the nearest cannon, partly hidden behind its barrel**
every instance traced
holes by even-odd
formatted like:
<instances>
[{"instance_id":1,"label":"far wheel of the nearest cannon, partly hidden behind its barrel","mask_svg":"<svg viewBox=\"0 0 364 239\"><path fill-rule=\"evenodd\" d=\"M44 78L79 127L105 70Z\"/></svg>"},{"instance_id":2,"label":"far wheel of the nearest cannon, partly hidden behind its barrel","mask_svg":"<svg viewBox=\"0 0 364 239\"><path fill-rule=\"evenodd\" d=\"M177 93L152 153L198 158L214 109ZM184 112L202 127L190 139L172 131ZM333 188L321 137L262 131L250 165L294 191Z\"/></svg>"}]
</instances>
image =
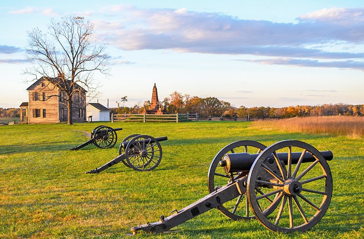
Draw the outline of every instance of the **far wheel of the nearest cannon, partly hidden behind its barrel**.
<instances>
[{"instance_id":1,"label":"far wheel of the nearest cannon, partly hidden behind its barrel","mask_svg":"<svg viewBox=\"0 0 364 239\"><path fill-rule=\"evenodd\" d=\"M211 193L211 192L215 191L216 187L223 186L223 185L227 184L227 182L230 181L229 176L226 175L223 168L218 166L218 162L221 159L223 159L225 154L228 154L228 153L259 154L265 148L266 148L265 145L255 142L255 141L250 141L250 140L236 141L236 142L231 143L231 144L225 146L224 148L222 148L220 150L220 152L217 153L215 158L212 159L210 168L208 169L208 174L207 174L208 191ZM237 179L237 178L241 178L241 177L245 176L247 173L248 173L248 171L234 173L233 176L234 176L234 179ZM260 193L260 190L259 190L259 192L257 191L256 193ZM273 200L272 199L269 199L269 200L270 201L267 200L267 204L271 205ZM242 205L242 206L239 207L239 205ZM274 206L276 207L277 205L274 205ZM267 209L268 208L269 207L267 207ZM231 201L225 203L224 205L219 206L217 209L220 210L220 212L222 214L224 214L225 216L227 216L233 220L249 220L249 219L254 218L254 215L249 210L249 204L248 204L248 200L246 197L246 193L243 195L240 195L237 198L236 202L235 202L235 200L231 200ZM269 214L269 212L270 212L270 210L266 210L264 213Z\"/></svg>"}]
</instances>

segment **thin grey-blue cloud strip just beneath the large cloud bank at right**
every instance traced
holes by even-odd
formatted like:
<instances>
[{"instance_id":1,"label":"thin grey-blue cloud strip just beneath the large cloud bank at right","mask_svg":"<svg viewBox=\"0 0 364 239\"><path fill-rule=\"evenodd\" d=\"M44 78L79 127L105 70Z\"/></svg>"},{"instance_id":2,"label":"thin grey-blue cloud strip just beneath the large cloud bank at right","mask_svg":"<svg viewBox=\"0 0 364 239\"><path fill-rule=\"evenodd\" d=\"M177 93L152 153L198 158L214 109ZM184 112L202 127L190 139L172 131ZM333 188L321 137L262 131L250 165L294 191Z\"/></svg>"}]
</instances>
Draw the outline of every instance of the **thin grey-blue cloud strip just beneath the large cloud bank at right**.
<instances>
[{"instance_id":1,"label":"thin grey-blue cloud strip just beneath the large cloud bank at right","mask_svg":"<svg viewBox=\"0 0 364 239\"><path fill-rule=\"evenodd\" d=\"M275 58L261 60L237 60L244 62L260 63L263 65L285 65L294 67L320 67L320 68L340 68L364 71L364 62L359 61L331 61L319 62L318 60L293 59L293 58Z\"/></svg>"}]
</instances>

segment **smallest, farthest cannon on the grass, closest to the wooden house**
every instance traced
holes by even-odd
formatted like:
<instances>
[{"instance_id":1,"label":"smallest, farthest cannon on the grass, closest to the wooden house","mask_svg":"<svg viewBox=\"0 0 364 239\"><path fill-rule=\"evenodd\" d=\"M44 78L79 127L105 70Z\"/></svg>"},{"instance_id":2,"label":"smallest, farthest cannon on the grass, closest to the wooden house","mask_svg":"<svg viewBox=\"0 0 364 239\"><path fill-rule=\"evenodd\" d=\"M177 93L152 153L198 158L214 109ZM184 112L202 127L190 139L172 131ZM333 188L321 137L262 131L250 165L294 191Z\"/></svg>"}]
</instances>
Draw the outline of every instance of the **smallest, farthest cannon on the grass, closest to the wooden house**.
<instances>
[{"instance_id":1,"label":"smallest, farthest cannon on the grass, closest to the wooden house","mask_svg":"<svg viewBox=\"0 0 364 239\"><path fill-rule=\"evenodd\" d=\"M90 144L94 144L100 149L110 149L114 147L116 141L118 140L118 135L116 134L116 131L119 130L122 130L122 128L113 129L109 126L104 125L97 126L95 129L92 130L90 140L69 150L79 150Z\"/></svg>"}]
</instances>

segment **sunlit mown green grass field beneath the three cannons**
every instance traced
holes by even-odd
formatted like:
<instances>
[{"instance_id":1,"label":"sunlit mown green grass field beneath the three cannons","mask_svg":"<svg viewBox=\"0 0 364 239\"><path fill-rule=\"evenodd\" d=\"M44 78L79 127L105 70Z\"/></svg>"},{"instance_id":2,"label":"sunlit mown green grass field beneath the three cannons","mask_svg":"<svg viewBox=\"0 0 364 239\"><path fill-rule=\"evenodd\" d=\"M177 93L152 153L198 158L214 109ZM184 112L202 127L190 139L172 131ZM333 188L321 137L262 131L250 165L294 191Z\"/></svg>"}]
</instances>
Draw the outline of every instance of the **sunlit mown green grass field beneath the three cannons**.
<instances>
[{"instance_id":1,"label":"sunlit mown green grass field beneath the three cannons","mask_svg":"<svg viewBox=\"0 0 364 239\"><path fill-rule=\"evenodd\" d=\"M130 228L158 221L208 194L209 164L225 145L255 140L307 142L331 150L334 193L324 218L310 231L281 234L258 221L232 221L213 209L171 234L134 238L364 238L364 139L257 130L249 122L109 123L122 127L116 147L67 149L88 138L99 123L0 127L0 238L128 238ZM153 171L119 163L99 174L84 174L118 155L128 135L168 136L163 159Z\"/></svg>"}]
</instances>

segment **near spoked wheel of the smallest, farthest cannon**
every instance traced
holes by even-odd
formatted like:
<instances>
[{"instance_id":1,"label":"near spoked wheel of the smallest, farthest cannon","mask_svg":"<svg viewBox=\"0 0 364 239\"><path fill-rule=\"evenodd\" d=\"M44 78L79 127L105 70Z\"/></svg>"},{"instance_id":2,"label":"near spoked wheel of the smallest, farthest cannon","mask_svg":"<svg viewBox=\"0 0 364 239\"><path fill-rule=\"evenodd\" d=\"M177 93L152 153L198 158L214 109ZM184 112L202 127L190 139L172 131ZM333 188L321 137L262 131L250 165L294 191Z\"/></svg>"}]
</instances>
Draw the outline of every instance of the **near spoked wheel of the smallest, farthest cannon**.
<instances>
[{"instance_id":1,"label":"near spoked wheel of the smallest, farthest cannon","mask_svg":"<svg viewBox=\"0 0 364 239\"><path fill-rule=\"evenodd\" d=\"M114 147L118 136L115 130L109 126L96 127L93 134L94 145L101 149L109 149Z\"/></svg>"}]
</instances>

